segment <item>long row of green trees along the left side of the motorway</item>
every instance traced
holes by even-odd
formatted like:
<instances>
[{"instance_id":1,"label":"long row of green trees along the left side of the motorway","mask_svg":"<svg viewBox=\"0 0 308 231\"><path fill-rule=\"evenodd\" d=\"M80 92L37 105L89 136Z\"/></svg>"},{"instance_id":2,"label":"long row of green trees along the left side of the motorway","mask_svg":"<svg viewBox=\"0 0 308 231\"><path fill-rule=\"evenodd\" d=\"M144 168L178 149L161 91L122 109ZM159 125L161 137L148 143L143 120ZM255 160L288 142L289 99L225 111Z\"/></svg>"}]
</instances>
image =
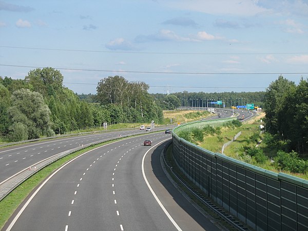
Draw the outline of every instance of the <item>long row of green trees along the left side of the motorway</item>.
<instances>
[{"instance_id":1,"label":"long row of green trees along the left side of the motorway","mask_svg":"<svg viewBox=\"0 0 308 231\"><path fill-rule=\"evenodd\" d=\"M162 109L144 82L109 76L97 94L81 100L63 85L51 67L29 71L25 79L0 76L0 136L8 141L52 136L76 129L117 123L163 121ZM85 96L85 95L84 95Z\"/></svg>"}]
</instances>

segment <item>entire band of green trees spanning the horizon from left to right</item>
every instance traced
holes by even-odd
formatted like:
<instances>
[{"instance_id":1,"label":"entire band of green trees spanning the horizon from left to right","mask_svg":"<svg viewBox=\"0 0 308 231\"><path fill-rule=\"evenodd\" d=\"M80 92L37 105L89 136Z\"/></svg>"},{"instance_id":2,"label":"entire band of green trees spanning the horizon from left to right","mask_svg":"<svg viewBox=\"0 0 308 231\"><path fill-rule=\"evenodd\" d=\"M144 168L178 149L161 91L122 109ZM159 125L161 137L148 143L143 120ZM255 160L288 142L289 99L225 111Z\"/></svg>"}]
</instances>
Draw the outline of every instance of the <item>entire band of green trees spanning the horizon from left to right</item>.
<instances>
[{"instance_id":1,"label":"entire band of green trees spanning the horizon from left to right","mask_svg":"<svg viewBox=\"0 0 308 231\"><path fill-rule=\"evenodd\" d=\"M100 80L96 94L76 94L51 67L30 70L25 79L0 76L0 139L20 141L63 134L104 122L163 123L163 110L202 107L223 101L225 107L254 103L266 113L265 130L285 151L308 152L308 81L296 85L283 76L266 91L148 93L144 82L123 76Z\"/></svg>"}]
</instances>

